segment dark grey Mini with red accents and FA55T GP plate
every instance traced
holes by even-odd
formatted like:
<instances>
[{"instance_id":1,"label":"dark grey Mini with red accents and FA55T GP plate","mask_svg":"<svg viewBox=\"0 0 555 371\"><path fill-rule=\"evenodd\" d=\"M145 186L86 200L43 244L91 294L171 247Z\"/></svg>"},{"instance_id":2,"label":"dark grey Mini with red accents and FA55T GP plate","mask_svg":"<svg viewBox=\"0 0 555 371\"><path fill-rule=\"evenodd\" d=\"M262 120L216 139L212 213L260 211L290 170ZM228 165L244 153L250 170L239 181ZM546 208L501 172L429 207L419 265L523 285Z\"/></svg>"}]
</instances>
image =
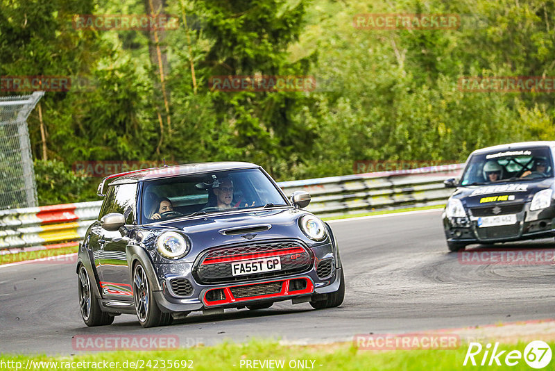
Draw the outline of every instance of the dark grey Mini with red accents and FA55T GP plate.
<instances>
[{"instance_id":1,"label":"dark grey Mini with red accents and FA55T GP plate","mask_svg":"<svg viewBox=\"0 0 555 371\"><path fill-rule=\"evenodd\" d=\"M269 308L291 299L339 306L345 282L330 226L251 163L201 163L115 174L80 244L85 324L136 314L143 327L191 311Z\"/></svg>"}]
</instances>

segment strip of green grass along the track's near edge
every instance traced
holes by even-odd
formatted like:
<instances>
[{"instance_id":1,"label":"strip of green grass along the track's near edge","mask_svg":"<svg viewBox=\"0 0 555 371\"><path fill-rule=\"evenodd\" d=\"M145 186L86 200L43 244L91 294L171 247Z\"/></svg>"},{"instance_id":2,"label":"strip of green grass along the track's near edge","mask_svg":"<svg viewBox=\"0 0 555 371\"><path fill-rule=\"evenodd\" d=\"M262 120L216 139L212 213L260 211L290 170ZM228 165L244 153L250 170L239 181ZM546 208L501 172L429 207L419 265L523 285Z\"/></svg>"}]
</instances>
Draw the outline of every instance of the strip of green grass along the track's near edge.
<instances>
[{"instance_id":1,"label":"strip of green grass along the track's near edge","mask_svg":"<svg viewBox=\"0 0 555 371\"><path fill-rule=\"evenodd\" d=\"M113 336L112 336L113 337ZM359 350L350 343L334 345L280 345L275 341L251 340L244 345L223 343L214 347L194 347L164 351L149 352L89 352L75 356L24 356L3 354L0 356L0 368L6 367L11 362L12 370L17 366L26 370L96 370L111 368L113 370L152 370L152 369L180 369L180 370L252 370L254 368L268 370L264 361L283 361L274 365L275 370L531 370L524 358L514 359L518 364L509 367L504 364L505 356L512 350L524 353L526 343L515 345L499 345L498 352L506 350L499 357L501 366L479 366L484 357L484 350L475 356L477 366L463 362L466 357L468 345L453 350L396 350L396 351L366 351ZM555 343L549 343L555 349ZM484 348L485 349L485 348ZM257 367L254 367L254 361ZM50 362L39 364L38 362ZM248 367L247 361L250 361ZM77 362L82 362L78 364ZM87 363L88 362L88 363ZM110 362L113 362L110 365ZM549 363L552 365L555 361ZM95 365L92 365L95 363ZM262 363L262 364L261 364ZM169 366L171 364L171 367ZM545 370L552 370L549 365ZM42 366L42 367L40 367ZM73 366L73 367L72 367ZM80 366L80 367L78 367ZM99 367L100 366L100 367ZM157 366L157 367L155 367ZM177 366L177 367L176 367ZM190 368L189 368L190 366Z\"/></svg>"}]
</instances>

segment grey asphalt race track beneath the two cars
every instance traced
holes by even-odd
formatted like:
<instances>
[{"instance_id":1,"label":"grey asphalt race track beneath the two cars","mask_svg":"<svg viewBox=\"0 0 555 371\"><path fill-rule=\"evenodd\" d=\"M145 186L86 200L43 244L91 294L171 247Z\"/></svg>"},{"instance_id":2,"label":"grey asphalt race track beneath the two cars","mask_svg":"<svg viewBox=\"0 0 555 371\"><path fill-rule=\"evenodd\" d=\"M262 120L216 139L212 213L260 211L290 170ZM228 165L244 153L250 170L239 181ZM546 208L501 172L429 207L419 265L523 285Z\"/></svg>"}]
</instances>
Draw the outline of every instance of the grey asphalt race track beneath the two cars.
<instances>
[{"instance_id":1,"label":"grey asphalt race track beneath the two cars","mask_svg":"<svg viewBox=\"0 0 555 371\"><path fill-rule=\"evenodd\" d=\"M355 333L405 333L555 318L554 265L467 265L447 252L441 211L333 222L347 281L339 308L315 311L290 301L261 311L192 313L167 327L143 329L133 315L107 327L80 318L73 263L0 267L0 352L74 354L84 334L171 334L181 346L280 338L307 343L350 340ZM477 245L470 247L477 248ZM502 249L553 249L554 240Z\"/></svg>"}]
</instances>

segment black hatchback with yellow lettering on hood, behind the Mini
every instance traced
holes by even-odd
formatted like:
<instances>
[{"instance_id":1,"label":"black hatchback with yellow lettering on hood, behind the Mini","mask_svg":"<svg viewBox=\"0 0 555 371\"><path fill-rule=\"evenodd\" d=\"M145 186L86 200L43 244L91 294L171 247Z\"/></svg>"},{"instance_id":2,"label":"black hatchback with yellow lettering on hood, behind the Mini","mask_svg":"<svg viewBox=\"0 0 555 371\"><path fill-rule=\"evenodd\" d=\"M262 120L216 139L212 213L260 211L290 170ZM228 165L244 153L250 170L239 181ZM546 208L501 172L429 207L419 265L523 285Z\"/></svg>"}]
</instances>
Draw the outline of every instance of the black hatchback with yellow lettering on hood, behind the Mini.
<instances>
[{"instance_id":1,"label":"black hatchback with yellow lettering on hood, behind the Mini","mask_svg":"<svg viewBox=\"0 0 555 371\"><path fill-rule=\"evenodd\" d=\"M472 152L443 212L450 251L555 236L555 142L522 142Z\"/></svg>"}]
</instances>

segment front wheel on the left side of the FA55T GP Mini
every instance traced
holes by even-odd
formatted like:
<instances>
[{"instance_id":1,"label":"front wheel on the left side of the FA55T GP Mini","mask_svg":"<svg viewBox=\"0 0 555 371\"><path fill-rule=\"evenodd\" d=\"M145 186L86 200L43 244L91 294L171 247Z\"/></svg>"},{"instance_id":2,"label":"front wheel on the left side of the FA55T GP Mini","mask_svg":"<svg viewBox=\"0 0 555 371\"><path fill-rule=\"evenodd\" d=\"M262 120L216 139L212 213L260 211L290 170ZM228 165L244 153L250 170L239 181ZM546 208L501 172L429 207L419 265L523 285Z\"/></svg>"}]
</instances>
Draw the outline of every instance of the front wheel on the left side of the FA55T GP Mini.
<instances>
[{"instance_id":1,"label":"front wheel on the left side of the FA55T GP Mini","mask_svg":"<svg viewBox=\"0 0 555 371\"><path fill-rule=\"evenodd\" d=\"M133 302L135 313L142 327L157 327L171 324L171 313L163 313L158 308L148 276L141 263L133 267Z\"/></svg>"}]
</instances>

